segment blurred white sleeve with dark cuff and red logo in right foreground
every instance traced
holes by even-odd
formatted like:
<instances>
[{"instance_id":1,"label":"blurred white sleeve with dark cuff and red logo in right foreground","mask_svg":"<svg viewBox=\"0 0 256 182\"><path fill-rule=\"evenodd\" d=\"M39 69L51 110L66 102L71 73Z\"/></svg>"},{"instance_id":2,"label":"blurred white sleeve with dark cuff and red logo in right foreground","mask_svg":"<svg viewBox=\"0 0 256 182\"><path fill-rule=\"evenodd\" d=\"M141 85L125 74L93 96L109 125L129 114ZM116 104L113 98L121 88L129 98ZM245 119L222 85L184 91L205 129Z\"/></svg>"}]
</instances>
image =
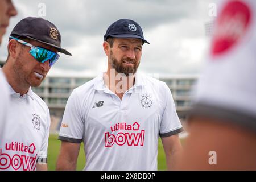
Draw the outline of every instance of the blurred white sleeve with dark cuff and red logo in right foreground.
<instances>
[{"instance_id":1,"label":"blurred white sleeve with dark cuff and red logo in right foreground","mask_svg":"<svg viewBox=\"0 0 256 182\"><path fill-rule=\"evenodd\" d=\"M256 131L256 1L224 1L192 115Z\"/></svg>"}]
</instances>

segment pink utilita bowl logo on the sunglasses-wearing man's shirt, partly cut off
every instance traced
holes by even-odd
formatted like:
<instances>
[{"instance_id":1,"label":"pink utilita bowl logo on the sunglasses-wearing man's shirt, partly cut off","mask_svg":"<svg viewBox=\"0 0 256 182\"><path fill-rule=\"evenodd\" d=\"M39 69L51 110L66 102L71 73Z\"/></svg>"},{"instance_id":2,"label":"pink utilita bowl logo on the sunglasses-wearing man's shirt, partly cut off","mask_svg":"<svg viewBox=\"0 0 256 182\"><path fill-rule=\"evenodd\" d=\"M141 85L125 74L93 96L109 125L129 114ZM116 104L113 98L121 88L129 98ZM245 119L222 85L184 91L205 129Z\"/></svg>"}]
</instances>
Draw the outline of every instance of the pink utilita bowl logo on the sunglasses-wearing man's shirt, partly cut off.
<instances>
[{"instance_id":1,"label":"pink utilita bowl logo on the sunglasses-wearing man's shirt, partly cut off","mask_svg":"<svg viewBox=\"0 0 256 182\"><path fill-rule=\"evenodd\" d=\"M22 170L34 171L36 168L35 144L29 146L21 142L11 142L5 144L5 152L0 149L0 170ZM13 154L13 152L16 154ZM20 154L22 152L22 154ZM27 155L28 154L28 155ZM30 156L35 155L35 156Z\"/></svg>"}]
</instances>

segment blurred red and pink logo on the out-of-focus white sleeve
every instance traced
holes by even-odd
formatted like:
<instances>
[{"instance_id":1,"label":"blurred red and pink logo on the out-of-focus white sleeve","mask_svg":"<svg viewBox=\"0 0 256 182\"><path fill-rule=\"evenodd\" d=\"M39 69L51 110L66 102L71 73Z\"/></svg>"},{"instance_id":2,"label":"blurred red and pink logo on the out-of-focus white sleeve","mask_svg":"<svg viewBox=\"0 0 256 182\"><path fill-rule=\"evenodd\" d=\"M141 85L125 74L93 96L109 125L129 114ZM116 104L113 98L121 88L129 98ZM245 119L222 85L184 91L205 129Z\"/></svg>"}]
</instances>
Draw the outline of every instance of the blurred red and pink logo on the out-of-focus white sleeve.
<instances>
[{"instance_id":1,"label":"blurred red and pink logo on the out-of-focus white sleeve","mask_svg":"<svg viewBox=\"0 0 256 182\"><path fill-rule=\"evenodd\" d=\"M251 11L242 1L229 1L221 11L214 30L213 56L228 51L245 34L249 27Z\"/></svg>"}]
</instances>

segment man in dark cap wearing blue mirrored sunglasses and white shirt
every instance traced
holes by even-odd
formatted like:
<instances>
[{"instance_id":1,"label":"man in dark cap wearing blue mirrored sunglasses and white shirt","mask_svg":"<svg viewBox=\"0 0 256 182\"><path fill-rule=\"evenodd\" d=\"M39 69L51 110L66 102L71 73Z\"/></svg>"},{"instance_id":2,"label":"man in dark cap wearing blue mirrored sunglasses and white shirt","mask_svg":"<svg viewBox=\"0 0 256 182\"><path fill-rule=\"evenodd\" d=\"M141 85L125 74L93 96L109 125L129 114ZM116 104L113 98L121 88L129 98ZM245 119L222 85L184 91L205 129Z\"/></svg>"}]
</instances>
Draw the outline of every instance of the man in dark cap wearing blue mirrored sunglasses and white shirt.
<instances>
[{"instance_id":1,"label":"man in dark cap wearing blue mirrored sunglasses and white shirt","mask_svg":"<svg viewBox=\"0 0 256 182\"><path fill-rule=\"evenodd\" d=\"M0 134L3 170L47 170L50 115L45 102L31 86L39 86L59 59L57 52L71 55L60 47L57 27L43 18L24 18L14 27L3 67L10 89L11 109L5 134Z\"/></svg>"}]
</instances>

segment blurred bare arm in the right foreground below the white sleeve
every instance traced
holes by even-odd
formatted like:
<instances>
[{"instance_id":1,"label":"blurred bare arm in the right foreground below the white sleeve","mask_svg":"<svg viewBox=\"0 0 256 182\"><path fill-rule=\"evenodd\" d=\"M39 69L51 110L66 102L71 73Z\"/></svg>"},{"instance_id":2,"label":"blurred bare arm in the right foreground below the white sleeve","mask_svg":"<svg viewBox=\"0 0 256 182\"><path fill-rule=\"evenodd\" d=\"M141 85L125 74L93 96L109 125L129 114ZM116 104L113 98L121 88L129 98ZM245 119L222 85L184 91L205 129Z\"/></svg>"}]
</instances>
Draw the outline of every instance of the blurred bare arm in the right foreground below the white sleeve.
<instances>
[{"instance_id":1,"label":"blurred bare arm in the right foreground below the white sleeve","mask_svg":"<svg viewBox=\"0 0 256 182\"><path fill-rule=\"evenodd\" d=\"M217 118L192 117L179 170L255 170L256 135ZM209 164L210 151L217 164Z\"/></svg>"}]
</instances>

